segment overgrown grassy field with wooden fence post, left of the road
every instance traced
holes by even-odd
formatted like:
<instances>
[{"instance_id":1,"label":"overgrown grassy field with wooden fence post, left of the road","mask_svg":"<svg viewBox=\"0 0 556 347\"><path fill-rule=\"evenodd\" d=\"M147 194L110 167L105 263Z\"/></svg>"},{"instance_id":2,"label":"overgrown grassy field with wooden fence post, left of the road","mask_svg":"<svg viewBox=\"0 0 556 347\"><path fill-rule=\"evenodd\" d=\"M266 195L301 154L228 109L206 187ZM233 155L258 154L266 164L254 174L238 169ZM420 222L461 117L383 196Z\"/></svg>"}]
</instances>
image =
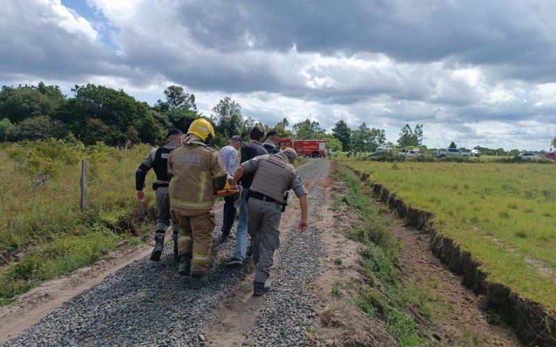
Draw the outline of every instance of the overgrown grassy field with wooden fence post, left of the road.
<instances>
[{"instance_id":1,"label":"overgrown grassy field with wooden fence post, left of the road","mask_svg":"<svg viewBox=\"0 0 556 347\"><path fill-rule=\"evenodd\" d=\"M49 158L51 149L60 153L56 146L0 149L0 304L44 280L92 264L124 239L138 244L150 235L152 223L143 220L145 208L135 192L135 171L149 146L127 151L78 146ZM79 208L79 158L88 158L90 167L85 212ZM151 172L147 188L152 180ZM145 191L147 205L153 205L152 190Z\"/></svg>"}]
</instances>

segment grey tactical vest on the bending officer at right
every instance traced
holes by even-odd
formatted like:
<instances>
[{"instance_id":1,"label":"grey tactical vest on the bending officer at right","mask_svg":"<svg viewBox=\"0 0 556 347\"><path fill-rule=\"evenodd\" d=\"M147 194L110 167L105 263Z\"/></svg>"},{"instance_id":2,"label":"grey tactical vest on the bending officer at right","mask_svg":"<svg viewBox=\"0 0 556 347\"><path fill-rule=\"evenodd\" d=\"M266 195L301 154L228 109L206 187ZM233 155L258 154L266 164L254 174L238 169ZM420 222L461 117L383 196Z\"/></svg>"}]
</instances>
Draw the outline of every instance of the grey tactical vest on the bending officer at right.
<instances>
[{"instance_id":1,"label":"grey tactical vest on the bending officer at right","mask_svg":"<svg viewBox=\"0 0 556 347\"><path fill-rule=\"evenodd\" d=\"M259 158L259 166L250 190L270 196L279 202L284 200L284 193L290 187L294 169L282 155L270 154Z\"/></svg>"}]
</instances>

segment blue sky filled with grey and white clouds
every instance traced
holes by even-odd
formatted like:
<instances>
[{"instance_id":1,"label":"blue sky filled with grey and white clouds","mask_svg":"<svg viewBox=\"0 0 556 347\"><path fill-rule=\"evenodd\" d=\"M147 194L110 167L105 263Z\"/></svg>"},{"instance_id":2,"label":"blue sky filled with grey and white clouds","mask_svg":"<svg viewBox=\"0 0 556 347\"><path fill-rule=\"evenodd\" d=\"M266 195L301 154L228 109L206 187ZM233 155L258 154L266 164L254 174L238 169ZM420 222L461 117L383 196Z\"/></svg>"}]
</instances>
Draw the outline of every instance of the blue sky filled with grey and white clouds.
<instances>
[{"instance_id":1,"label":"blue sky filled with grey and white clouds","mask_svg":"<svg viewBox=\"0 0 556 347\"><path fill-rule=\"evenodd\" d=\"M1 0L0 85L182 85L266 124L366 122L395 142L548 150L556 1Z\"/></svg>"}]
</instances>

